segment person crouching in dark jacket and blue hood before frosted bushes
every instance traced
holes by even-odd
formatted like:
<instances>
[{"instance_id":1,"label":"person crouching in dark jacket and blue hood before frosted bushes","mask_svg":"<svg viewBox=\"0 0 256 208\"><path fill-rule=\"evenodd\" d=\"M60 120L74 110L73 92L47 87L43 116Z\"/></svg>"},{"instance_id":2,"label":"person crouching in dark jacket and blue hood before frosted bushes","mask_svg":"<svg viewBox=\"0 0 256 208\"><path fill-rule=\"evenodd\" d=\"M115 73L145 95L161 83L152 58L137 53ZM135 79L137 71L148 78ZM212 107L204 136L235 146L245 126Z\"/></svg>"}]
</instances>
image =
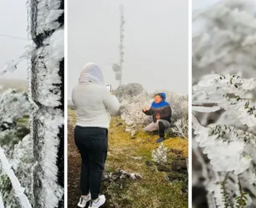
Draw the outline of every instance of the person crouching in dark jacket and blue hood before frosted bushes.
<instances>
[{"instance_id":1,"label":"person crouching in dark jacket and blue hood before frosted bushes","mask_svg":"<svg viewBox=\"0 0 256 208\"><path fill-rule=\"evenodd\" d=\"M153 115L153 122L146 126L146 132L159 132L158 142L165 140L165 130L170 128L171 108L170 104L166 102L166 94L159 93L154 95L154 102L149 110L144 108L143 113L146 115Z\"/></svg>"}]
</instances>

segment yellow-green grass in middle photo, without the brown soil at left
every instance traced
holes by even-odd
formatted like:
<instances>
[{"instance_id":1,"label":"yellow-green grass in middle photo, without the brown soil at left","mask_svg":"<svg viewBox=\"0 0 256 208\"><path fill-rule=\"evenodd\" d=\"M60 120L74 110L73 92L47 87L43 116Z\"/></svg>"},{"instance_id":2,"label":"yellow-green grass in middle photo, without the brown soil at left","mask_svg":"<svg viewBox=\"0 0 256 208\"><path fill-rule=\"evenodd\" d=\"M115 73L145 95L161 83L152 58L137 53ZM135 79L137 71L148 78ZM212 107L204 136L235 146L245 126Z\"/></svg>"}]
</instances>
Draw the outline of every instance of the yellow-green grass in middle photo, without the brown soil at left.
<instances>
[{"instance_id":1,"label":"yellow-green grass in middle photo, without the brown soil at left","mask_svg":"<svg viewBox=\"0 0 256 208\"><path fill-rule=\"evenodd\" d=\"M69 117L74 123L76 119L74 110L69 110ZM135 139L131 139L130 134L125 132L125 124L122 119L112 118L106 172L122 169L142 174L142 179L127 181L122 188L120 188L120 184L103 184L102 191L109 196L110 204L114 207L187 207L188 196L182 193L182 187L186 184L182 181L167 182L165 173L156 170L156 166L147 166L145 163L146 161L152 162L151 152L159 146L155 143L157 138L158 135L139 132ZM169 150L182 150L182 157L187 157L187 140L168 138L164 145ZM74 157L74 153L69 152L70 156L71 154ZM175 157L174 153L168 152L169 162Z\"/></svg>"}]
</instances>

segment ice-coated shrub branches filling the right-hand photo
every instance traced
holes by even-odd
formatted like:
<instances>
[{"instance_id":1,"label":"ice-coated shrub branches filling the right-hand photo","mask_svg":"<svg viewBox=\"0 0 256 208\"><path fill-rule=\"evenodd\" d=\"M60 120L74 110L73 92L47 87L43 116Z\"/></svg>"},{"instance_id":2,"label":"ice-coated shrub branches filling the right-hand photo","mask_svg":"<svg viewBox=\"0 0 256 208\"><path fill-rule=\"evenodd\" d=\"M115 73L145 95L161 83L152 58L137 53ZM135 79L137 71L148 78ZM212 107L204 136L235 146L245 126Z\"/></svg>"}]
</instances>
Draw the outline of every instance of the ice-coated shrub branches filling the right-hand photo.
<instances>
[{"instance_id":1,"label":"ice-coated shrub branches filling the right-hand photo","mask_svg":"<svg viewBox=\"0 0 256 208\"><path fill-rule=\"evenodd\" d=\"M193 186L209 207L256 206L255 8L220 1L194 12Z\"/></svg>"}]
</instances>

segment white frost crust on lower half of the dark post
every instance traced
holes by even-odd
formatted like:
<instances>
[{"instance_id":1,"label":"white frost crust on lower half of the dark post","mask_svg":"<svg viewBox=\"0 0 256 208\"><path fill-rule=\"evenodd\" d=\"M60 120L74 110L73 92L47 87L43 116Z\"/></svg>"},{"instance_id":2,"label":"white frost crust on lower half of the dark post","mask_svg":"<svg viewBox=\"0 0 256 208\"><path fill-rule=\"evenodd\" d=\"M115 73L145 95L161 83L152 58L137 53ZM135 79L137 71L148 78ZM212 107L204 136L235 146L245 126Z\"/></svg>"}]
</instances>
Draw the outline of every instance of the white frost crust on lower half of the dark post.
<instances>
[{"instance_id":1,"label":"white frost crust on lower half of the dark post","mask_svg":"<svg viewBox=\"0 0 256 208\"><path fill-rule=\"evenodd\" d=\"M44 207L55 207L64 194L63 188L58 185L58 166L56 163L59 146L58 127L63 123L62 111L50 110L50 112L46 112L43 110L37 115L37 118L37 122L44 123L43 126L38 127L38 137L44 138L41 141L42 150L38 150L42 153L42 161L38 162L38 166L43 171L40 176L42 181L42 196L40 198Z\"/></svg>"}]
</instances>

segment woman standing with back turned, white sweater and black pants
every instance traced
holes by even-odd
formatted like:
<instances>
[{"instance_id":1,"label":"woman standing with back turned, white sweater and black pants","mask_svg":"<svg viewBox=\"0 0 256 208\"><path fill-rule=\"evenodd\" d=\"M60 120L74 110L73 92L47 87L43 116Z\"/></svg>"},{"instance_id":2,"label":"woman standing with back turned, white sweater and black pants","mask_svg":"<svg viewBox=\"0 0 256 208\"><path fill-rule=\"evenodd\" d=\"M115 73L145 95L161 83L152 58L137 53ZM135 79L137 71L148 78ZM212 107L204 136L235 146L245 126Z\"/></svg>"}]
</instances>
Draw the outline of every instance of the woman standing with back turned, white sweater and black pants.
<instances>
[{"instance_id":1,"label":"woman standing with back turned, white sweater and black pants","mask_svg":"<svg viewBox=\"0 0 256 208\"><path fill-rule=\"evenodd\" d=\"M118 99L106 89L102 70L87 63L80 74L79 84L72 91L77 110L74 140L82 158L79 207L99 207L106 202L100 194L102 174L108 149L110 112L119 109Z\"/></svg>"}]
</instances>

